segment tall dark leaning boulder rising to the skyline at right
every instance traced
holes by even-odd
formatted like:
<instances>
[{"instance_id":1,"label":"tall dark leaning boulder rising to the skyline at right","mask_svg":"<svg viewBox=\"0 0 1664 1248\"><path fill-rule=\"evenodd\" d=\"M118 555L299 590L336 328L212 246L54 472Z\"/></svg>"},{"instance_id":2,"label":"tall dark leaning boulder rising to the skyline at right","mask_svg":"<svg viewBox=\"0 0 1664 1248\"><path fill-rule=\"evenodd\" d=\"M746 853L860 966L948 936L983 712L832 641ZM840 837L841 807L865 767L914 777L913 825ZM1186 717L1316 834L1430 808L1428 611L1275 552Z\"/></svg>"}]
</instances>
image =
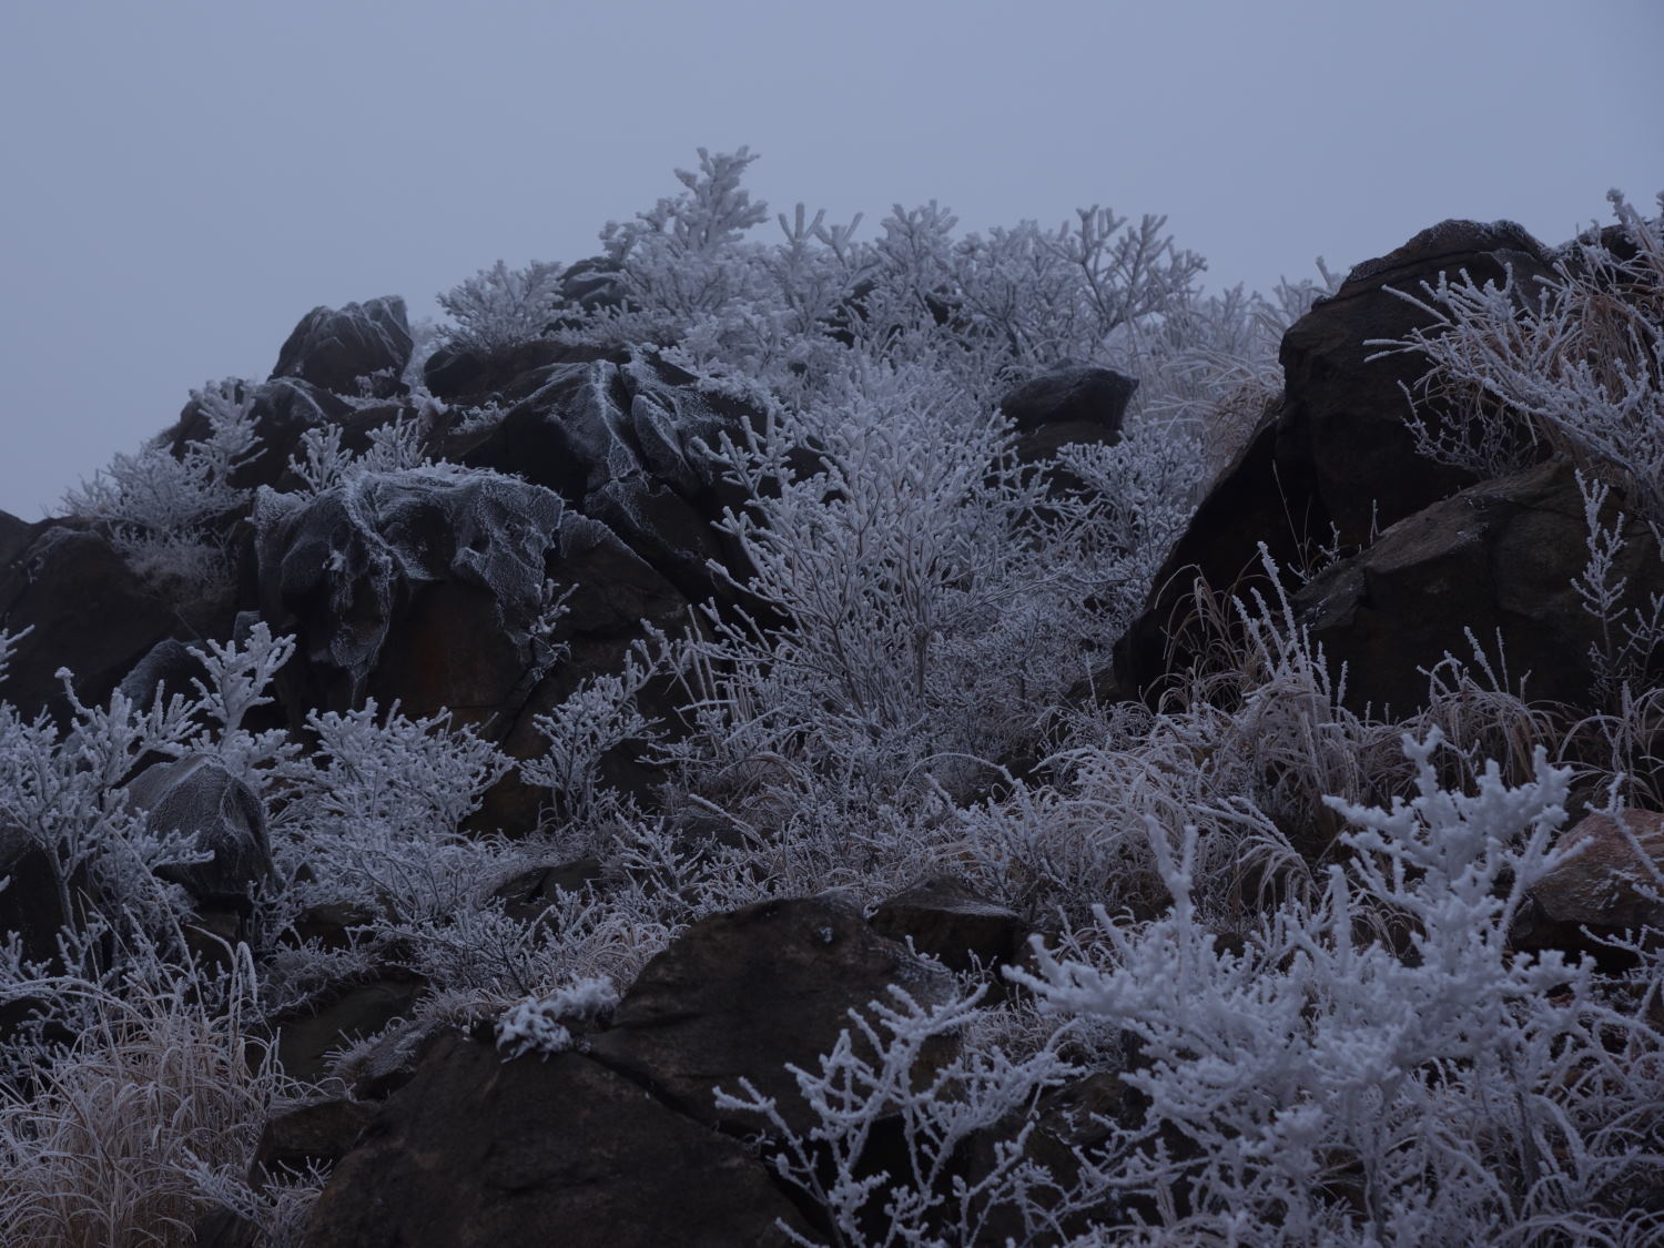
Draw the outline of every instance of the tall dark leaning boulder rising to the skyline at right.
<instances>
[{"instance_id":1,"label":"tall dark leaning boulder rising to the skyline at right","mask_svg":"<svg viewBox=\"0 0 1664 1248\"><path fill-rule=\"evenodd\" d=\"M1476 484L1473 474L1414 449L1403 386L1419 379L1426 361L1416 354L1371 361L1381 348L1366 346L1428 324L1424 311L1391 290L1421 296L1423 281L1459 271L1476 281L1501 281L1513 271L1529 291L1549 266L1543 246L1516 225L1444 221L1354 268L1333 298L1290 328L1281 348L1283 403L1215 481L1156 574L1145 614L1115 651L1122 689L1148 691L1188 664L1188 652L1166 651L1196 576L1215 591L1246 587L1261 579L1261 542L1280 566L1296 566L1336 537L1341 546L1368 544ZM1436 426L1439 408L1429 404L1423 416Z\"/></svg>"}]
</instances>

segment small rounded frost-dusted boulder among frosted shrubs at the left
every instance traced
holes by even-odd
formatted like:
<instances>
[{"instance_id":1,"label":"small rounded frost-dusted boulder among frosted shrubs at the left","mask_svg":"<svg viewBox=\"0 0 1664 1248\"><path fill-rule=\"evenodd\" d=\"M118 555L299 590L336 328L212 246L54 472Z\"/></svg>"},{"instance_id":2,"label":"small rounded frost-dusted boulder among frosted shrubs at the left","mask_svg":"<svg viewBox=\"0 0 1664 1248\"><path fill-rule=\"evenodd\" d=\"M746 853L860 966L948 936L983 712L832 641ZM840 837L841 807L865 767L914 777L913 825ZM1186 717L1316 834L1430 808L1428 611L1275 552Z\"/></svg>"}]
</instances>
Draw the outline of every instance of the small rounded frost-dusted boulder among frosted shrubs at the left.
<instances>
[{"instance_id":1,"label":"small rounded frost-dusted boulder among frosted shrubs at the left","mask_svg":"<svg viewBox=\"0 0 1664 1248\"><path fill-rule=\"evenodd\" d=\"M156 762L126 785L133 810L156 835L178 832L213 860L163 867L156 874L203 904L245 904L271 875L271 842L260 797L208 754Z\"/></svg>"}]
</instances>

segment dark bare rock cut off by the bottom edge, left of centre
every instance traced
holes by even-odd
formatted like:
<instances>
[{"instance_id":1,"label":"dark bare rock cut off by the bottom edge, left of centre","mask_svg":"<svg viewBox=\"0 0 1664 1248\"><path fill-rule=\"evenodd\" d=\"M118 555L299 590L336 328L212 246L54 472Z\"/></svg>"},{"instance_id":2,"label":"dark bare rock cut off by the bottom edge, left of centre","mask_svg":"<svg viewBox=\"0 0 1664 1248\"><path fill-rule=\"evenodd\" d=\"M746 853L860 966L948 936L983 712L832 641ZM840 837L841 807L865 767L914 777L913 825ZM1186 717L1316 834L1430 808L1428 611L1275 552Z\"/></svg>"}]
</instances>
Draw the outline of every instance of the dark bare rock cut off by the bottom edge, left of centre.
<instances>
[{"instance_id":1,"label":"dark bare rock cut off by the bottom edge, left of centre","mask_svg":"<svg viewBox=\"0 0 1664 1248\"><path fill-rule=\"evenodd\" d=\"M577 1053L444 1037L336 1166L305 1248L737 1248L809 1226L744 1146Z\"/></svg>"}]
</instances>

